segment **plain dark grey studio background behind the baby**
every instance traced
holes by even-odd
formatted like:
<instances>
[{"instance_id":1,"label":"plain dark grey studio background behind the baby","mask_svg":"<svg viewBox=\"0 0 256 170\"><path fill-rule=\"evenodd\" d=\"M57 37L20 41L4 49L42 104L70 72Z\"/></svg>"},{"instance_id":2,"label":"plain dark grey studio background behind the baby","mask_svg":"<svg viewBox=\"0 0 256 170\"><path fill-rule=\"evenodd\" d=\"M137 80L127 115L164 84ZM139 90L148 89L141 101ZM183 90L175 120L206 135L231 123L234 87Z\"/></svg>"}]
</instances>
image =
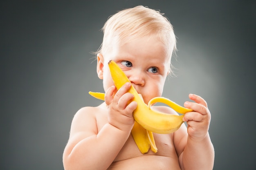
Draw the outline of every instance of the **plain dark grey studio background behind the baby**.
<instances>
[{"instance_id":1,"label":"plain dark grey studio background behind the baby","mask_svg":"<svg viewBox=\"0 0 256 170\"><path fill-rule=\"evenodd\" d=\"M212 119L214 170L256 167L256 2L115 0L0 2L1 170L62 170L72 117L100 101L94 55L108 16L142 4L171 20L177 77L164 97L204 97Z\"/></svg>"}]
</instances>

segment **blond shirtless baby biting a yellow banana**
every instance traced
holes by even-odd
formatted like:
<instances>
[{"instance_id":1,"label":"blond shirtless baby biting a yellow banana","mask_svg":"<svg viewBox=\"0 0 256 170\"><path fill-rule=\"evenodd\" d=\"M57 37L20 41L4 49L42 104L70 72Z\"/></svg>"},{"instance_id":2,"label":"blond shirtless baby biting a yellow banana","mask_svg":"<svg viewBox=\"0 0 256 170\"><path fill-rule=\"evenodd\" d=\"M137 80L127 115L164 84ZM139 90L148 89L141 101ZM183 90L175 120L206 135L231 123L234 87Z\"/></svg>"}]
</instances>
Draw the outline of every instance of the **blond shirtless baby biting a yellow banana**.
<instances>
[{"instance_id":1,"label":"blond shirtless baby biting a yellow banana","mask_svg":"<svg viewBox=\"0 0 256 170\"><path fill-rule=\"evenodd\" d=\"M195 102L184 106L182 126L171 134L153 133L157 152L142 154L131 135L136 102L129 102L131 84L118 91L108 68L115 61L147 104L162 95L171 74L171 56L176 50L173 27L159 11L143 6L112 15L103 26L104 36L97 53L97 73L103 79L105 102L81 108L72 121L70 138L63 153L65 170L212 170L214 149L208 129L211 120L207 103L189 94ZM177 114L166 106L154 110Z\"/></svg>"}]
</instances>

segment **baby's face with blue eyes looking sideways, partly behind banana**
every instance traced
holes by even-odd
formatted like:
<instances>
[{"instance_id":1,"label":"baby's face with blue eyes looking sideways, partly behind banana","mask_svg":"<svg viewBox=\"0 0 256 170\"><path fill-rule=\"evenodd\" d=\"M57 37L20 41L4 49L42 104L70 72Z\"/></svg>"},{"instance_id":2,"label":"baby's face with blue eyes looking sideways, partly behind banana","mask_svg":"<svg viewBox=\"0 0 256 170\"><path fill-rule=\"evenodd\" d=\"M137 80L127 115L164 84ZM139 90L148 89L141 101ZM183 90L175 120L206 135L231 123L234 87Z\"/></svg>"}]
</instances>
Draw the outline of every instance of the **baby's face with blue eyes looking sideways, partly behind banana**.
<instances>
[{"instance_id":1,"label":"baby's face with blue eyes looking sideways, partly behind banana","mask_svg":"<svg viewBox=\"0 0 256 170\"><path fill-rule=\"evenodd\" d=\"M114 44L114 43L113 43ZM114 85L108 68L108 61L114 60L124 71L137 92L148 103L153 97L162 95L164 82L169 73L170 57L166 46L154 37L132 40L103 56L103 87L106 91Z\"/></svg>"}]
</instances>

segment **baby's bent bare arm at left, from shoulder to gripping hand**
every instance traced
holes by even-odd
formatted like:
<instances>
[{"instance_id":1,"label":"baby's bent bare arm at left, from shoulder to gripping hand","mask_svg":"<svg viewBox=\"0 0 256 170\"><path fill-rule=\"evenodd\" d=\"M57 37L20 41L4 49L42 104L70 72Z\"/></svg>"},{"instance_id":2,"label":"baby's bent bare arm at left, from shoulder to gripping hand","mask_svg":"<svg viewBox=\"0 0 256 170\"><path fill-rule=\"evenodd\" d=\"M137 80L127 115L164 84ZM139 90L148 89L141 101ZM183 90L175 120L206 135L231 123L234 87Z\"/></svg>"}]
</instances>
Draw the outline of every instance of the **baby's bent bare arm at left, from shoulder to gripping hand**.
<instances>
[{"instance_id":1,"label":"baby's bent bare arm at left, from shoulder to gripping hand","mask_svg":"<svg viewBox=\"0 0 256 170\"><path fill-rule=\"evenodd\" d=\"M127 105L133 98L133 95L126 93L129 88L130 85L123 86L115 97L112 97L115 87L108 89L105 95L106 104L109 105L108 123L99 132L93 114L99 108L87 107L76 113L70 139L63 153L65 169L106 170L114 161L134 124L132 112L137 103Z\"/></svg>"}]
</instances>

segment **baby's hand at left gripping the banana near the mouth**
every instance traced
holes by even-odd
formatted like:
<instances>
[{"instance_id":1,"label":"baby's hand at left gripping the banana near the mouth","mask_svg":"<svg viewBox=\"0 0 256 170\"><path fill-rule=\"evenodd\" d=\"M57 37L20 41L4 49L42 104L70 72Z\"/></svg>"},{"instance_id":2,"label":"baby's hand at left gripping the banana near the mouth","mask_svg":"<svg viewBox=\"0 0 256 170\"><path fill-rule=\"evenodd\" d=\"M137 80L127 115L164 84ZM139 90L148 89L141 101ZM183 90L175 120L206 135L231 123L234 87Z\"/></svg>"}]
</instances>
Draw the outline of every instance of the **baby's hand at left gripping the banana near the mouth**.
<instances>
[{"instance_id":1,"label":"baby's hand at left gripping the banana near the mouth","mask_svg":"<svg viewBox=\"0 0 256 170\"><path fill-rule=\"evenodd\" d=\"M130 83L124 84L114 97L115 86L108 88L105 93L105 102L108 106L108 122L123 131L132 130L134 125L132 112L137 108L137 102L135 101L128 104L134 97L131 93L127 93L130 87Z\"/></svg>"}]
</instances>

